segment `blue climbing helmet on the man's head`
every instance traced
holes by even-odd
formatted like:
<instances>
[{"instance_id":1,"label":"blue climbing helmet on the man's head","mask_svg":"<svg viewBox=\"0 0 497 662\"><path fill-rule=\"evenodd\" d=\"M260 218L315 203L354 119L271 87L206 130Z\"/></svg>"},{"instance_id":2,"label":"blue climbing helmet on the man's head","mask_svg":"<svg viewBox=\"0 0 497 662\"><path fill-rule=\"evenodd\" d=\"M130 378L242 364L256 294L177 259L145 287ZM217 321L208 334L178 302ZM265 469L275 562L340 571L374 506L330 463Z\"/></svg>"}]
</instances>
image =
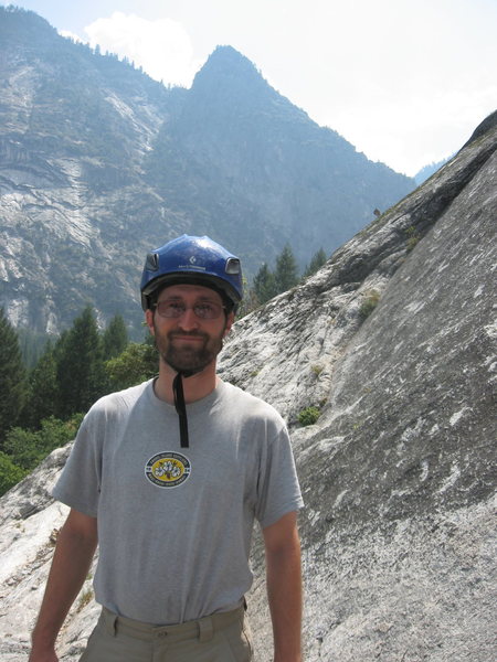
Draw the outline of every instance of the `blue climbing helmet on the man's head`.
<instances>
[{"instance_id":1,"label":"blue climbing helmet on the man's head","mask_svg":"<svg viewBox=\"0 0 497 662\"><path fill-rule=\"evenodd\" d=\"M151 308L168 285L203 285L219 292L229 311L243 297L240 259L211 238L182 235L151 250L141 275L141 307Z\"/></svg>"}]
</instances>

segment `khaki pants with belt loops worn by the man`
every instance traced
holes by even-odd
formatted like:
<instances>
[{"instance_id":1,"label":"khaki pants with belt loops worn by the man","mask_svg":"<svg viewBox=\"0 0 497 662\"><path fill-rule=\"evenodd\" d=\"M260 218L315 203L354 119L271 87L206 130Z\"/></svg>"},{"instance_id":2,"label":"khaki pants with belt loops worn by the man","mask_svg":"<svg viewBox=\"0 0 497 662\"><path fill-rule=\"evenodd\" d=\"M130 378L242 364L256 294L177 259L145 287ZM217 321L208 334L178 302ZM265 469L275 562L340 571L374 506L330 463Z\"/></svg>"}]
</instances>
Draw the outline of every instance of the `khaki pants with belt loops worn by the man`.
<instances>
[{"instance_id":1,"label":"khaki pants with belt loops worn by the man","mask_svg":"<svg viewBox=\"0 0 497 662\"><path fill-rule=\"evenodd\" d=\"M250 662L243 607L180 626L156 627L102 610L80 662Z\"/></svg>"}]
</instances>

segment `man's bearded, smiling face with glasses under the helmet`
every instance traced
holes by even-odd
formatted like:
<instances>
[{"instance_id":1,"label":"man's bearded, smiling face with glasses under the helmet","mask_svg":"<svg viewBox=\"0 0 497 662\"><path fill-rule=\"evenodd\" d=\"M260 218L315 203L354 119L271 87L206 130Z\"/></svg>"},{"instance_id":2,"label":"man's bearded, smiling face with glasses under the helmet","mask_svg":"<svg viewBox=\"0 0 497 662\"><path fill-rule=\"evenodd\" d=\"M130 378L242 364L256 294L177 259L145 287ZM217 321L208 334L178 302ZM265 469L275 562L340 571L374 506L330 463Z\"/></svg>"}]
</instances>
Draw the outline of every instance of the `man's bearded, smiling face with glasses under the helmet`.
<instances>
[{"instance_id":1,"label":"man's bearded, smiling face with glasses under the helmet","mask_svg":"<svg viewBox=\"0 0 497 662\"><path fill-rule=\"evenodd\" d=\"M157 308L147 310L147 323L161 360L176 372L198 373L214 362L233 323L233 313L226 317L223 308L218 318L203 319L195 313L195 306L219 310L223 301L208 287L172 285L159 293ZM181 314L177 318L161 317L163 308L172 308Z\"/></svg>"}]
</instances>

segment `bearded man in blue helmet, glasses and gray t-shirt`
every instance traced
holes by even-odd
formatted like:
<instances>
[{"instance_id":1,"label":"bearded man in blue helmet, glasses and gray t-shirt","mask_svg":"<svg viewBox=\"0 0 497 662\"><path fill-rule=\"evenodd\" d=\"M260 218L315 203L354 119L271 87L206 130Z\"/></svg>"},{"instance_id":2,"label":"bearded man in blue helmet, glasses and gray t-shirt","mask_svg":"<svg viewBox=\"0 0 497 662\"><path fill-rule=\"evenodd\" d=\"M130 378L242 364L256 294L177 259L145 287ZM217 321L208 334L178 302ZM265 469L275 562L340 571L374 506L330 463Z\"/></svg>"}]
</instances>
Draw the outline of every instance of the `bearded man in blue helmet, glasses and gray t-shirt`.
<instances>
[{"instance_id":1,"label":"bearded man in blue helmet, glasses and gray t-shirt","mask_svg":"<svg viewBox=\"0 0 497 662\"><path fill-rule=\"evenodd\" d=\"M147 256L141 302L159 376L103 397L82 424L53 491L71 511L30 662L57 661L55 639L97 541L103 611L82 662L252 660L254 519L274 661L300 661L302 496L288 435L269 405L215 372L241 298L240 260L209 237L183 235Z\"/></svg>"}]
</instances>

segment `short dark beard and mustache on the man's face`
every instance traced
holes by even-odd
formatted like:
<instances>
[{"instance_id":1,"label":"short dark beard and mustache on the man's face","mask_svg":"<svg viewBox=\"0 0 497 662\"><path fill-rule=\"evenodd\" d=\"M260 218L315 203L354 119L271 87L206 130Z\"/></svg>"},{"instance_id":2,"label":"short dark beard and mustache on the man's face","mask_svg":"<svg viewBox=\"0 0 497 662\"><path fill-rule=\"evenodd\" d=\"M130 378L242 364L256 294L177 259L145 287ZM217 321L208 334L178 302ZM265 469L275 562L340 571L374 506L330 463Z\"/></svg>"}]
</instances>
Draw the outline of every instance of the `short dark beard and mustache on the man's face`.
<instances>
[{"instance_id":1,"label":"short dark beard and mustache on the man's face","mask_svg":"<svg viewBox=\"0 0 497 662\"><path fill-rule=\"evenodd\" d=\"M177 373L195 374L202 372L210 365L223 346L224 329L219 335L209 335L201 331L186 333L161 334L157 325L155 327L156 345L161 360L170 365ZM182 343L175 340L177 335L202 339L202 342Z\"/></svg>"}]
</instances>

